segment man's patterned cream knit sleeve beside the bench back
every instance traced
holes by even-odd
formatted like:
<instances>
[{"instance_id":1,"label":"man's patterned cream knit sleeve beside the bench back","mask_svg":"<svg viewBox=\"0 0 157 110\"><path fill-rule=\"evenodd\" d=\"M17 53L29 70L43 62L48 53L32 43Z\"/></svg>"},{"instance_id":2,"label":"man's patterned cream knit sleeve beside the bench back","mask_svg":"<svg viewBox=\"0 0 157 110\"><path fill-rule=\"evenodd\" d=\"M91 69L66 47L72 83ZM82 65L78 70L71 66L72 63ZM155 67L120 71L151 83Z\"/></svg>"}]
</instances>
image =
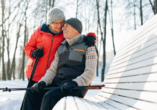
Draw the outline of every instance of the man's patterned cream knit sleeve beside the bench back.
<instances>
[{"instance_id":1,"label":"man's patterned cream knit sleeve beside the bench back","mask_svg":"<svg viewBox=\"0 0 157 110\"><path fill-rule=\"evenodd\" d=\"M84 72L73 79L78 86L87 86L89 85L96 76L96 67L97 67L97 53L95 46L88 47L86 52L86 64Z\"/></svg>"}]
</instances>

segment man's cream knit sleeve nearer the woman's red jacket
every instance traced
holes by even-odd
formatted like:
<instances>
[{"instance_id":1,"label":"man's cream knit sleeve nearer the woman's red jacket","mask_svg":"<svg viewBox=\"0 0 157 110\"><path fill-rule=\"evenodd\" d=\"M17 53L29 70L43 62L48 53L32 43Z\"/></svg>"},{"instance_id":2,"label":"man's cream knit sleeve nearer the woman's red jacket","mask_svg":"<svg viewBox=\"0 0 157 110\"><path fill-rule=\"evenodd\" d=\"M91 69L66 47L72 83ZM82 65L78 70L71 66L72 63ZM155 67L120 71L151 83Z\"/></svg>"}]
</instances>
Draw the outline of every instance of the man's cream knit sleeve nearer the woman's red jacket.
<instances>
[{"instance_id":1,"label":"man's cream knit sleeve nearer the woman's red jacket","mask_svg":"<svg viewBox=\"0 0 157 110\"><path fill-rule=\"evenodd\" d=\"M44 81L46 85L49 85L52 83L57 73L58 62L59 62L59 55L58 55L58 52L56 52L55 58L53 62L51 63L50 68L47 69L46 74L41 78L39 82Z\"/></svg>"}]
</instances>

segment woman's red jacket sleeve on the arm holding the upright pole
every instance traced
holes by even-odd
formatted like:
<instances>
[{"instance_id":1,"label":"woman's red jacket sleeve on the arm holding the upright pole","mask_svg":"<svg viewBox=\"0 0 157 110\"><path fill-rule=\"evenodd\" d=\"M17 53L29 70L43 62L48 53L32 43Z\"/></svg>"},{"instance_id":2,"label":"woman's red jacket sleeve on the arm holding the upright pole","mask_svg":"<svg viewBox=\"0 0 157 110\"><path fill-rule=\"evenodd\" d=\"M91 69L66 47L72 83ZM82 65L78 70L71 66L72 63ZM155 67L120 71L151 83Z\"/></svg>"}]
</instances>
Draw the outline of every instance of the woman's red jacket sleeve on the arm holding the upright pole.
<instances>
[{"instance_id":1,"label":"woman's red jacket sleeve on the arm holding the upright pole","mask_svg":"<svg viewBox=\"0 0 157 110\"><path fill-rule=\"evenodd\" d=\"M32 52L36 49L37 37L39 35L39 31L40 31L40 28L35 30L35 32L31 35L31 38L29 39L29 41L26 42L26 46L24 47L24 51L26 55L31 59L35 59L32 57Z\"/></svg>"}]
</instances>

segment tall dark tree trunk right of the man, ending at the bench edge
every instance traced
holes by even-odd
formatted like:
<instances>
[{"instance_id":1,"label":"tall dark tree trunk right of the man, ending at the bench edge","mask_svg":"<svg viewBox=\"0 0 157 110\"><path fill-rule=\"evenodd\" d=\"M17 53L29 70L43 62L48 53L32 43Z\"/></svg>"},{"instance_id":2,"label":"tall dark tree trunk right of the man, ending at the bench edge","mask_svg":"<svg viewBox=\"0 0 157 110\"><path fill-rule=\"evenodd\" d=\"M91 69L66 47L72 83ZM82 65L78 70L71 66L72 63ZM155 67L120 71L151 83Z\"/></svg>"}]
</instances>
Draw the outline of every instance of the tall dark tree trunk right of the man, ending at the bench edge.
<instances>
[{"instance_id":1,"label":"tall dark tree trunk right of the man, ending at the bench edge","mask_svg":"<svg viewBox=\"0 0 157 110\"><path fill-rule=\"evenodd\" d=\"M101 81L104 81L104 75L105 75L105 68L106 68L106 26L107 26L107 10L108 10L108 0L106 0L105 3L105 10L104 10L104 39L103 39L103 67L102 67L102 73L101 73Z\"/></svg>"}]
</instances>

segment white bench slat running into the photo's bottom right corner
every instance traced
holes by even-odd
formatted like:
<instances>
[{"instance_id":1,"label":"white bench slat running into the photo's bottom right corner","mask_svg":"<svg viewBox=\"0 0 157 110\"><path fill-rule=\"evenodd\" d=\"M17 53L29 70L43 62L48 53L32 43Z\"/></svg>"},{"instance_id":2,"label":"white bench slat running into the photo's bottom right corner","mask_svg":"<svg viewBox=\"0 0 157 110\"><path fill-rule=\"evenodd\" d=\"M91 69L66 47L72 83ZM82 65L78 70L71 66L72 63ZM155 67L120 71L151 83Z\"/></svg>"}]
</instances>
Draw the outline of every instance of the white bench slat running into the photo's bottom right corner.
<instances>
[{"instance_id":1,"label":"white bench slat running into the photo's bottom right corner","mask_svg":"<svg viewBox=\"0 0 157 110\"><path fill-rule=\"evenodd\" d=\"M101 95L102 97L107 97L114 101L118 101L120 103L129 105L129 106L133 106L138 109L157 110L157 104L155 104L155 103L149 103L149 102L145 102L145 101L140 101L140 100L136 100L136 99L132 99L132 98L128 98L128 97L122 97L122 96L118 96L118 95L114 95L114 94L108 94L108 93L103 93L103 94L101 93L99 95Z\"/></svg>"}]
</instances>

